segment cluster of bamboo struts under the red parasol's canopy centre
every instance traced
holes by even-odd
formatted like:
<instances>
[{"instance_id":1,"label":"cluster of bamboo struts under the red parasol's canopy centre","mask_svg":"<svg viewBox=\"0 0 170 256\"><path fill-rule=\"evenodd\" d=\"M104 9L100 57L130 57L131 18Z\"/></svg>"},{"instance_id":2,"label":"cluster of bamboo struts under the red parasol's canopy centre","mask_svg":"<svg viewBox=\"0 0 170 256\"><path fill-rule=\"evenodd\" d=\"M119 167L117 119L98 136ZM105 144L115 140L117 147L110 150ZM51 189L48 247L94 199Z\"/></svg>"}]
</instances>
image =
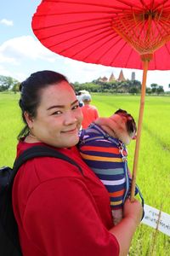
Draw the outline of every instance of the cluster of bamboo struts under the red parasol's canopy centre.
<instances>
[{"instance_id":1,"label":"cluster of bamboo struts under the red parasol's canopy centre","mask_svg":"<svg viewBox=\"0 0 170 256\"><path fill-rule=\"evenodd\" d=\"M142 0L140 2L142 2ZM150 8L153 8L153 4L154 3L150 5ZM162 4L161 12L159 11L156 13L154 20L152 20L151 11L149 13L145 13L144 10L141 15L139 14L139 18L141 19L139 19L139 21L136 19L138 16L133 8L131 8L130 15L128 15L124 10L122 10L122 14L123 15L116 14L116 17L113 17L113 28L125 41L127 41L128 44L131 44L131 46L133 46L133 48L136 49L139 54L152 53L154 50L164 44L164 40L168 40L170 37L168 34L169 30L167 29L167 26L161 25L163 31L165 33L167 32L167 38L165 38L164 34L162 34L161 30L159 29L159 26L156 25L156 21L161 20ZM145 15L149 15L147 20L145 19ZM133 21L135 21L133 26L131 17L133 17ZM155 23L154 28L152 28L152 22ZM161 21L159 23L163 24ZM158 31L159 33L157 33ZM163 36L164 40L162 41Z\"/></svg>"}]
</instances>

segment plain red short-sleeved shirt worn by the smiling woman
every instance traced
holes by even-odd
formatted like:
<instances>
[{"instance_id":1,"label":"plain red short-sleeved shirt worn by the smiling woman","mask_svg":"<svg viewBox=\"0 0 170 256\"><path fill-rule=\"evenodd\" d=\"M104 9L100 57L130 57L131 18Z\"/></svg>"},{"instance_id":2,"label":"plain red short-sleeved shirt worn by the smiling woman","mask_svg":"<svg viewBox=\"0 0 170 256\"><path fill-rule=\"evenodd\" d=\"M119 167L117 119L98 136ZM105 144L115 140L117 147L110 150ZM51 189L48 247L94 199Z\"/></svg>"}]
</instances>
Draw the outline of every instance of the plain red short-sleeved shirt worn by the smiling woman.
<instances>
[{"instance_id":1,"label":"plain red short-sleeved shirt worn by the smiling woman","mask_svg":"<svg viewBox=\"0 0 170 256\"><path fill-rule=\"evenodd\" d=\"M17 155L35 144L20 142ZM77 166L50 157L28 160L13 186L24 256L118 256L108 192L77 148L59 148Z\"/></svg>"}]
</instances>

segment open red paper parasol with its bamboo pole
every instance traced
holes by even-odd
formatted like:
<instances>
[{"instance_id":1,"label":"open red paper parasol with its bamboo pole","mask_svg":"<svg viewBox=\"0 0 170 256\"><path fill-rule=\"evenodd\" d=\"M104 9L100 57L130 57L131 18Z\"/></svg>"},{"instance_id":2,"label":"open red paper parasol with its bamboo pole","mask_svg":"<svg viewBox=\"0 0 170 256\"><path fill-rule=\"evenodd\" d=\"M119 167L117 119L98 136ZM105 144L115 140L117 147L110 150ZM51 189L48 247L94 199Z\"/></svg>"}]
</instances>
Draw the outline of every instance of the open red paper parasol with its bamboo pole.
<instances>
[{"instance_id":1,"label":"open red paper parasol with its bamboo pole","mask_svg":"<svg viewBox=\"0 0 170 256\"><path fill-rule=\"evenodd\" d=\"M42 0L32 19L40 42L59 55L143 69L133 200L148 69L170 69L170 0Z\"/></svg>"}]
</instances>

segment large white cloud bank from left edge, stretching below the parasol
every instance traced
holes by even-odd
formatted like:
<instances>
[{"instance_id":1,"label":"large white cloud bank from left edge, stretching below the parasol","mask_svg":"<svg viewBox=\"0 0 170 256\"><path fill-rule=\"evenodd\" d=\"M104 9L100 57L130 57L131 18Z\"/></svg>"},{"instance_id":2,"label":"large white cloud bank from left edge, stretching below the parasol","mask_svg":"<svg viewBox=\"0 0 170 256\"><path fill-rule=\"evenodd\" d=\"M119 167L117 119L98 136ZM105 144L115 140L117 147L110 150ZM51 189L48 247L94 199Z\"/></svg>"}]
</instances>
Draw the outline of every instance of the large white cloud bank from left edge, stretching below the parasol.
<instances>
[{"instance_id":1,"label":"large white cloud bank from left edge, stretching below the parasol","mask_svg":"<svg viewBox=\"0 0 170 256\"><path fill-rule=\"evenodd\" d=\"M37 70L54 70L65 76L71 82L90 82L99 77L109 78L111 73L117 79L121 68L105 67L74 61L69 58L57 55L48 50L32 36L12 38L0 45L0 74L11 76L14 79L26 79L31 73ZM136 79L142 81L142 70L123 69L125 79L131 79L132 72L135 72ZM164 85L168 90L170 84L170 71L149 71L147 75L147 86L150 84Z\"/></svg>"}]
</instances>

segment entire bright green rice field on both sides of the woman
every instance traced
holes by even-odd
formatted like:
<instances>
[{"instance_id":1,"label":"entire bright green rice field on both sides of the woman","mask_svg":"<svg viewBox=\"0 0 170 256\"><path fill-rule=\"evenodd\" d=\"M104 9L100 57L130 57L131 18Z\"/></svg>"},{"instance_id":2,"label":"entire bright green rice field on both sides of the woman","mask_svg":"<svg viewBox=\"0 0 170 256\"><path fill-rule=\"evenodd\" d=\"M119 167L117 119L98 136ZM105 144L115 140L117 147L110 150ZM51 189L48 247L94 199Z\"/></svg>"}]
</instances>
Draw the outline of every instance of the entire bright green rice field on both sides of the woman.
<instances>
[{"instance_id":1,"label":"entire bright green rice field on both sides of the woman","mask_svg":"<svg viewBox=\"0 0 170 256\"><path fill-rule=\"evenodd\" d=\"M0 94L0 166L12 166L17 135L22 128L19 94ZM138 120L140 96L93 95L101 116L118 108ZM128 147L128 166L133 169L135 142ZM170 96L146 96L140 139L137 183L145 204L170 214ZM170 236L140 224L133 237L129 256L169 256Z\"/></svg>"}]
</instances>

